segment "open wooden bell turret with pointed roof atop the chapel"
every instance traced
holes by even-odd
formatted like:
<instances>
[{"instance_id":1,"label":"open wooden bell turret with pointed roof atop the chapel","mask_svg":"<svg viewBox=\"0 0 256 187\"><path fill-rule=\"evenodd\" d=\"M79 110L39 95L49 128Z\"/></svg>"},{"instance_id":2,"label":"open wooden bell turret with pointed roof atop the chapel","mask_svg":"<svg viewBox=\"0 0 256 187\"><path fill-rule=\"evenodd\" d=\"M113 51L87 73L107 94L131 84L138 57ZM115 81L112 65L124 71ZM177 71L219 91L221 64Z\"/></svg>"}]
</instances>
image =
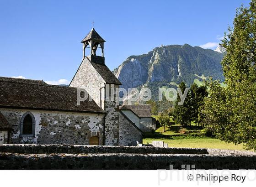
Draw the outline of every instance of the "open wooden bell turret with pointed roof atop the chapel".
<instances>
[{"instance_id":1,"label":"open wooden bell turret with pointed roof atop the chapel","mask_svg":"<svg viewBox=\"0 0 256 187\"><path fill-rule=\"evenodd\" d=\"M91 29L89 34L85 36L81 43L83 43L83 57L85 57L86 48L90 48L90 58L91 62L97 59L103 60L104 63L104 42L106 42L96 31L94 28ZM96 51L98 48L101 48L101 56L96 55Z\"/></svg>"}]
</instances>

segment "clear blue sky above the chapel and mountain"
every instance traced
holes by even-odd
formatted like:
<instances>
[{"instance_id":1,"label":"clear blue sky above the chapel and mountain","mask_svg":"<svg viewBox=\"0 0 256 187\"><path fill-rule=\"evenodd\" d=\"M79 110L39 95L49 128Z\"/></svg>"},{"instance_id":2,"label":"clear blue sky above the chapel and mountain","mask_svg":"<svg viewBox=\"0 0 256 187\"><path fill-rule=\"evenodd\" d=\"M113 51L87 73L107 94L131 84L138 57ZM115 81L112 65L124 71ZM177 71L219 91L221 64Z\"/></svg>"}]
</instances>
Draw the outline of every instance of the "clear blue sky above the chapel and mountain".
<instances>
[{"instance_id":1,"label":"clear blue sky above the chapel and mountain","mask_svg":"<svg viewBox=\"0 0 256 187\"><path fill-rule=\"evenodd\" d=\"M249 0L0 0L0 76L68 83L91 30L113 70L163 45L216 48L235 9ZM61 80L64 79L64 80Z\"/></svg>"}]
</instances>

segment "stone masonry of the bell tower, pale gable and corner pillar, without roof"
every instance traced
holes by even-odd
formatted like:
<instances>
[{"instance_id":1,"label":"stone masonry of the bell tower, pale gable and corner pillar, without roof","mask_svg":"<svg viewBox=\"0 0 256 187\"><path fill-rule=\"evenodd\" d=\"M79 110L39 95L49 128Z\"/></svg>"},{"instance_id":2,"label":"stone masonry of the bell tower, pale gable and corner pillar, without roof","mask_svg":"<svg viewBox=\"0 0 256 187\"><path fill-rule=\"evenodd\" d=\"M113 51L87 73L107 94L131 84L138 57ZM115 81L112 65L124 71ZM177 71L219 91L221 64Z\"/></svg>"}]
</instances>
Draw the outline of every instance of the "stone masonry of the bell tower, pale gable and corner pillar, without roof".
<instances>
[{"instance_id":1,"label":"stone masonry of the bell tower, pale gable and corner pillar, without roof","mask_svg":"<svg viewBox=\"0 0 256 187\"><path fill-rule=\"evenodd\" d=\"M104 83L106 82L101 78L101 75L85 57L75 74L75 77L71 81L70 87L84 88L96 104L107 112L105 117L105 145L118 145L118 106L115 101L106 101L106 89L104 88ZM111 88L111 86L109 88ZM114 88L119 88L119 86L114 85Z\"/></svg>"}]
</instances>

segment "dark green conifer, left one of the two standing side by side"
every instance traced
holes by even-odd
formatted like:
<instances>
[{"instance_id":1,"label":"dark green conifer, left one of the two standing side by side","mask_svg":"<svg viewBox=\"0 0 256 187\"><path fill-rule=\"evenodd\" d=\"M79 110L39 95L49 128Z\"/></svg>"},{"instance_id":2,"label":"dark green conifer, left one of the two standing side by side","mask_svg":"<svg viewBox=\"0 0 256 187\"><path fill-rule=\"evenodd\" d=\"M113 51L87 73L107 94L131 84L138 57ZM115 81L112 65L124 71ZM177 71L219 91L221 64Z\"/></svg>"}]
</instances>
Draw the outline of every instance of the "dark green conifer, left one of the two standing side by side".
<instances>
[{"instance_id":1,"label":"dark green conifer, left one of the two standing side by side","mask_svg":"<svg viewBox=\"0 0 256 187\"><path fill-rule=\"evenodd\" d=\"M181 89L182 94L184 94L185 89L187 88L186 84L184 82L181 82L179 85L179 88ZM182 126L190 125L192 121L192 109L191 109L191 93L188 91L187 96L184 100L184 103L182 105L179 105L178 102L181 101L181 98L178 94L174 110L173 110L173 118L176 122L176 124L181 124Z\"/></svg>"}]
</instances>

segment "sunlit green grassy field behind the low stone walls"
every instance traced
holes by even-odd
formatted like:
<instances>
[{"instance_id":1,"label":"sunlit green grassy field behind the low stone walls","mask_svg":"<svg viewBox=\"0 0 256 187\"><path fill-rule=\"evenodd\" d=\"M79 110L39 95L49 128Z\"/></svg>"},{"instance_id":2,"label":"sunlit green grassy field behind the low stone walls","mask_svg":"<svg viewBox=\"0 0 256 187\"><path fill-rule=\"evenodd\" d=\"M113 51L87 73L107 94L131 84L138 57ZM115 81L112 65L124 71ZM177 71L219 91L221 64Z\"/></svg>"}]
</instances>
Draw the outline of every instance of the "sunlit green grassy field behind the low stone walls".
<instances>
[{"instance_id":1,"label":"sunlit green grassy field behind the low stone walls","mask_svg":"<svg viewBox=\"0 0 256 187\"><path fill-rule=\"evenodd\" d=\"M157 118L157 116L155 116ZM244 150L243 145L225 143L216 138L204 137L200 134L202 127L192 126L182 127L181 125L171 125L171 128L163 127L155 130L154 133L145 133L143 144L151 144L152 141L164 141L169 147L191 147L191 148L212 148Z\"/></svg>"}]
</instances>

